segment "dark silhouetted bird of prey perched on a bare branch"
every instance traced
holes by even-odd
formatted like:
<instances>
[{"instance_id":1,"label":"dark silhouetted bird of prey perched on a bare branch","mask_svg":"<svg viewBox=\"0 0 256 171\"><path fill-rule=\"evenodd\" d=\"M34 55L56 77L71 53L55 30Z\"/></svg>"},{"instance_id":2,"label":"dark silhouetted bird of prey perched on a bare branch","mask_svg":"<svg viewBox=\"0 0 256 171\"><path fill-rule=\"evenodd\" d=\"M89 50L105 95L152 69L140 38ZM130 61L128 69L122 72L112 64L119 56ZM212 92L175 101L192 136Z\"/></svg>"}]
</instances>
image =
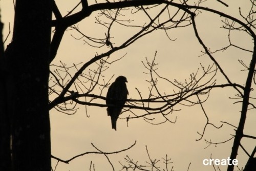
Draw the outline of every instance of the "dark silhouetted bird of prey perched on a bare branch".
<instances>
[{"instance_id":1,"label":"dark silhouetted bird of prey perched on a bare branch","mask_svg":"<svg viewBox=\"0 0 256 171\"><path fill-rule=\"evenodd\" d=\"M124 76L117 77L106 94L106 104L108 105L106 111L108 112L108 116L111 117L112 129L115 130L116 121L129 94L125 82L127 82L127 79Z\"/></svg>"}]
</instances>

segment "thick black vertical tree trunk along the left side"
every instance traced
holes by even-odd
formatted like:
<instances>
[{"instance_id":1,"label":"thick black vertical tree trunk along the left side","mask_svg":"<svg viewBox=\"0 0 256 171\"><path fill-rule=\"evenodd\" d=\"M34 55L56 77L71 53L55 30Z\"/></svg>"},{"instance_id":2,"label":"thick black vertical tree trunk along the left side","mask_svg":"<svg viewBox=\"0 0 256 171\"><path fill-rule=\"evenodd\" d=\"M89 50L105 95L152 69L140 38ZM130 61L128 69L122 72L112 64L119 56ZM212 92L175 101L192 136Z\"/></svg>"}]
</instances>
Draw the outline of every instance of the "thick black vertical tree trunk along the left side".
<instances>
[{"instance_id":1,"label":"thick black vertical tree trunk along the left side","mask_svg":"<svg viewBox=\"0 0 256 171\"><path fill-rule=\"evenodd\" d=\"M2 70L6 72L1 88L5 89L6 98L0 100L6 101L7 110L1 111L5 121L0 123L10 130L5 139L8 141L10 135L12 139L11 165L5 167L15 171L51 170L48 110L51 6L51 0L16 1L13 40L1 57ZM10 151L8 143L4 145ZM9 159L10 154L5 161Z\"/></svg>"}]
</instances>

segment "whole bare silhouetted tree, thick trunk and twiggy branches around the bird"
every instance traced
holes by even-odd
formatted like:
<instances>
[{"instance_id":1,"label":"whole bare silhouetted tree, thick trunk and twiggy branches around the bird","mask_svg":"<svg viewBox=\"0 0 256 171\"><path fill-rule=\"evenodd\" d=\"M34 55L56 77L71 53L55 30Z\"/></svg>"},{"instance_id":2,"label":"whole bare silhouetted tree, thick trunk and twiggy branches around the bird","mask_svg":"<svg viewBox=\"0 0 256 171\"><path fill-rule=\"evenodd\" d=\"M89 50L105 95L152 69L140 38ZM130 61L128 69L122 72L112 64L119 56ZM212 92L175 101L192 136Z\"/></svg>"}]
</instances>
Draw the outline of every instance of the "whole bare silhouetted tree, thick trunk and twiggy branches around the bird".
<instances>
[{"instance_id":1,"label":"whole bare silhouetted tree, thick trunk and twiggy branches around the bird","mask_svg":"<svg viewBox=\"0 0 256 171\"><path fill-rule=\"evenodd\" d=\"M224 7L228 7L221 0L216 1ZM89 152L82 153L69 160L62 160L51 156L49 110L54 108L60 112L69 114L75 111L74 106L77 104L107 107L108 105L103 102L94 101L96 99L105 100L105 97L101 96L101 94L109 86L110 79L104 81L101 79L101 76L108 68L107 65L115 62L111 58L111 55L118 50L132 45L136 40L153 31L164 30L168 36L167 30L186 26L193 28L195 36L204 50L204 55L207 55L212 60L213 65L208 67L202 66L200 70L201 75L198 74L198 71L195 74L191 74L188 80L180 82L177 80L171 81L169 78L159 75L156 71L157 63L155 62L155 58L153 61L149 61L146 58L143 64L147 70L147 74L150 76L150 79L147 80L150 84L150 93L147 97L143 97L140 90L137 89L140 99L129 99L126 105L124 105L125 112L131 113L126 119L129 121L134 118L144 118L145 121L152 122L152 118L148 116L158 114L165 120L163 122L175 122L176 119L172 121L167 115L175 112L175 106L177 104L186 106L198 104L201 106L207 118L203 133L200 134L200 140L204 136L206 126L214 125L208 120L202 105L203 102L207 100L209 92L212 89L229 87L237 92L238 102L242 103L240 121L237 126L234 126L236 133L231 138L233 139L233 146L231 148L230 159L237 158L239 148L242 148L246 152L242 146L241 139L244 137L256 139L251 135L244 134L249 106L251 106L250 109L255 109L255 105L250 101L253 99L251 97L251 91L256 84L254 80L256 35L254 33L255 21L253 19L255 1L250 1L251 9L246 16L243 16L240 11L243 20L232 17L224 12L204 7L202 5L203 2L195 1L189 5L188 1L178 1L176 3L165 0L131 0L120 2L107 0L103 3L96 2L95 4L89 5L87 0L81 0L66 16L62 16L54 1L17 0L15 3L12 41L4 53L3 49L0 52L0 136L2 138L0 144L0 169L50 171L51 157L58 160L58 162L69 163L77 157L89 154ZM81 10L74 12L79 6L81 6ZM127 10L128 7L131 7L131 9ZM106 28L104 38L87 36L76 25L95 11L98 11L99 15L104 18L102 20L96 17L96 22ZM132 13L131 17L137 14L143 14L146 22L131 24L130 19L122 18L124 16L123 13L126 11ZM235 47L252 54L249 66L245 65L243 61L240 61L245 67L245 70L248 71L247 79L243 86L232 82L228 78L214 57L216 52L211 52L200 36L197 29L196 16L201 12L209 12L225 18L223 20L223 28L227 29L229 33L233 30L238 30L251 36L254 44L252 51L233 45L231 41L230 45L216 51L224 51L229 47ZM55 16L54 19L52 19L52 13ZM119 24L127 28L135 27L138 30L129 38L122 40L121 43L117 43L111 35L114 24ZM52 39L51 28L54 28ZM78 32L90 46L108 47L108 50L103 49L101 54L91 57L82 66L73 65L72 67L67 67L63 63L59 66L51 64L57 54L62 36L67 29L73 29ZM229 36L228 34L230 40ZM2 41L0 46L3 48ZM96 69L84 74L84 70L93 64L97 65ZM52 68L51 71L49 67ZM72 69L75 71L74 74L71 74ZM225 83L218 84L216 82L214 78L217 71L224 76L226 79ZM158 79L165 80L175 87L177 91L173 94L161 93L157 87ZM94 94L93 92L96 88L99 88L98 90L100 92ZM51 97L50 100L49 96ZM81 100L81 97L86 97L87 100ZM144 113L137 115L136 110L144 111ZM218 144L211 141L208 143ZM126 149L130 149L133 145ZM109 154L117 153L104 153L97 147L95 148L97 152L92 153L103 154L106 158L108 158L107 155ZM255 163L253 162L255 159L255 150L251 154L248 152L246 154L248 154L248 163L245 169L250 170L250 168L255 167L255 164L251 164ZM126 158L126 161L134 165L136 164L129 158ZM166 156L165 162L167 163L168 161L169 159ZM151 164L154 165L155 163L153 162ZM137 166L135 165L134 167ZM134 169L134 167L130 168ZM229 165L227 170L233 171L234 166Z\"/></svg>"}]
</instances>

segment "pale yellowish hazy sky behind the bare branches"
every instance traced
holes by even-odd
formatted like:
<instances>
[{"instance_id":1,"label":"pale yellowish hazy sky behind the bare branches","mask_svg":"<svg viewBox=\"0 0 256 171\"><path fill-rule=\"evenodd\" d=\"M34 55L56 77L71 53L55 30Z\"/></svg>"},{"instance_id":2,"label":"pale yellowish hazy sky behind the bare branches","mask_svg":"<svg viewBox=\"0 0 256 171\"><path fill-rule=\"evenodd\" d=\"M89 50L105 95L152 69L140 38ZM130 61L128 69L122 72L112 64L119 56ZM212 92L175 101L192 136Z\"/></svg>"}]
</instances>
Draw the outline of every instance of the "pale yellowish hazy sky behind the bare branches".
<instances>
[{"instance_id":1,"label":"pale yellowish hazy sky behind the bare branches","mask_svg":"<svg viewBox=\"0 0 256 171\"><path fill-rule=\"evenodd\" d=\"M66 1L63 3L63 1L58 0L56 4L64 16L78 2ZM227 3L229 7L227 8L214 0L203 3L202 5L221 10L240 19L239 7L241 7L241 12L244 15L248 13L251 7L250 1L223 0L223 2ZM94 4L94 1L89 1L89 4ZM9 32L8 22L10 23L11 29L13 28L13 3L9 0L2 0L0 1L0 5L1 19L5 24L4 35L6 36ZM227 46L228 30L220 28L223 25L221 20L224 20L224 18L216 14L201 12L196 17L196 22L199 34L206 46L211 51ZM102 38L104 37L105 29L95 24L96 16L98 14L94 12L90 17L82 20L79 23L79 29L88 36ZM134 19L134 22L140 25L145 23L145 16L136 15L134 17L130 14L124 17ZM113 36L112 40L116 42L115 45L118 45L135 31L136 28L125 28L116 25L111 32L111 36ZM161 76L171 81L174 81L174 79L178 79L179 81L188 79L191 73L196 73L198 68L200 68L200 63L204 67L212 65L212 61L208 56L201 56L203 49L196 39L191 26L172 29L167 32L170 38L176 40L169 40L163 30L157 30L152 34L142 37L130 47L111 55L111 59L113 58L112 60L114 60L127 53L121 60L109 66L110 68L104 72L104 79L110 79L113 74L115 76L112 81L119 75L126 76L128 80L127 88L129 90L129 98L138 99L139 96L135 88L138 88L142 92L142 95L146 97L149 84L145 80L150 79L148 75L143 73L146 70L141 61L145 61L145 57L148 60L152 60L156 51L157 71ZM73 65L73 63L84 63L94 57L96 53L109 50L106 47L101 49L92 48L88 44L84 44L82 39L76 40L71 35L77 38L80 37L79 33L75 31L66 31L57 56L52 64L59 65L59 60L67 63L68 66ZM8 45L10 40L11 37L7 39L5 46ZM241 31L231 32L231 41L248 50L252 50L253 48L251 37ZM214 54L216 60L222 66L230 80L242 85L245 83L247 71L241 71L244 68L238 60L243 60L246 65L249 65L251 55L250 52L244 52L236 48L229 48L224 52ZM88 72L88 70L84 72ZM202 70L199 70L199 75L201 73ZM225 83L225 79L219 71L216 79L217 83ZM159 80L158 86L161 93L171 94L175 90L172 84L163 80ZM106 91L103 91L102 96L106 95ZM229 98L236 97L234 96L235 94L237 92L231 88L218 88L211 91L210 97L203 103L204 110L209 117L209 122L214 123L216 126L220 126L221 121L238 125L241 103L233 104L236 100ZM105 103L103 100L99 102ZM174 166L174 170L187 170L191 162L189 170L203 171L214 170L212 166L204 166L202 163L203 159L209 159L210 156L212 158L226 159L231 152L232 140L224 144L219 144L217 147L211 145L208 148L205 148L208 144L204 141L206 139L212 142L222 142L231 138L234 131L233 127L228 124L224 124L221 129L215 129L213 126L208 125L204 137L200 141L196 141L196 139L200 138L197 132L202 133L206 123L206 117L200 105L192 107L176 106L176 110L181 110L174 111L168 116L170 120L175 120L177 116L176 123L166 122L160 125L152 125L139 118L131 119L129 126L127 126L125 119L118 119L117 131L111 129L111 120L106 114L106 108L88 106L87 112L90 117L87 117L85 106L78 107L79 109L74 115L62 114L54 109L50 111L52 155L63 160L70 159L84 152L96 151L91 143L104 152L113 152L129 147L136 141L136 145L129 151L109 156L116 170L121 169L119 161L126 164L124 160L126 155L129 155L130 158L138 161L141 165L146 164L145 161L148 161L148 157L145 145L147 145L152 159L160 159L159 166L164 166L162 158L165 158L167 154L168 158L172 158L173 162L169 165L169 170L172 166ZM140 111L137 112L138 115L142 114ZM252 114L253 112L252 110L248 112L244 133L255 136L256 116L254 115L255 113ZM125 113L120 117L125 118L128 115ZM155 117L156 120L161 121L160 116ZM251 153L255 146L255 140L243 138L242 143L247 151ZM247 157L241 149L238 160L239 167L244 166L247 161ZM89 170L91 161L95 164L96 170L111 170L111 165L103 155L86 155L77 158L70 162L70 164L59 163L56 170ZM56 161L53 160L53 166L55 166L55 163ZM220 168L221 170L226 169L225 166L221 166Z\"/></svg>"}]
</instances>

